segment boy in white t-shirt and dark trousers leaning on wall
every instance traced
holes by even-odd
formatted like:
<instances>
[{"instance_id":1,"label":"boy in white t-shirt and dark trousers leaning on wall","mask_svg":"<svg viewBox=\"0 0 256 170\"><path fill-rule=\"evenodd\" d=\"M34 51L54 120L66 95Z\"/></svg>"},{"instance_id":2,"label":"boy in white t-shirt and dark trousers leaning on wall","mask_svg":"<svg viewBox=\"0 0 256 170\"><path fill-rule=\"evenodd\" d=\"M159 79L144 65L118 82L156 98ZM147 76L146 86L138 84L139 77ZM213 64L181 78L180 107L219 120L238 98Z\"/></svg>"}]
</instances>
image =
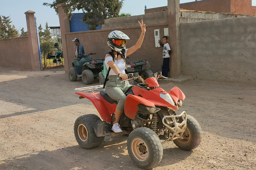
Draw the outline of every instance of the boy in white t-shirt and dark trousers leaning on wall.
<instances>
[{"instance_id":1,"label":"boy in white t-shirt and dark trousers leaning on wall","mask_svg":"<svg viewBox=\"0 0 256 170\"><path fill-rule=\"evenodd\" d=\"M163 43L159 40L158 43L164 47L163 48L163 65L162 65L162 75L164 77L168 76L169 69L169 62L170 62L170 54L172 53L170 45L168 43L168 37L163 37Z\"/></svg>"}]
</instances>

